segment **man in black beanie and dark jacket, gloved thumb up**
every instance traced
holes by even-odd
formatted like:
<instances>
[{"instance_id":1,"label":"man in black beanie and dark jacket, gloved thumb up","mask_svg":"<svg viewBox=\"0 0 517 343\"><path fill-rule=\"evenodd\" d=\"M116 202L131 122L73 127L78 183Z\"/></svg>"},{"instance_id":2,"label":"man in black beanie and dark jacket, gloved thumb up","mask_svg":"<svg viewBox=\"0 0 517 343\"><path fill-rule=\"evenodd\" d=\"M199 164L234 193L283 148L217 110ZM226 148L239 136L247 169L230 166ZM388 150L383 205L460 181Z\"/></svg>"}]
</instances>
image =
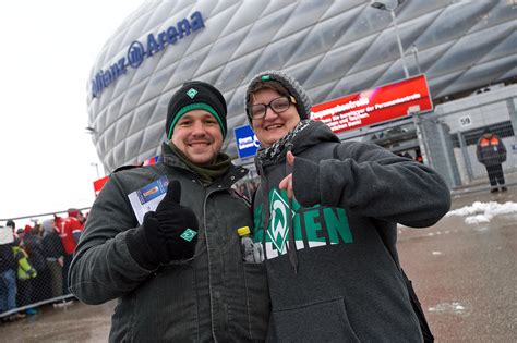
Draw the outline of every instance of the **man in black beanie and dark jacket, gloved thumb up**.
<instances>
[{"instance_id":1,"label":"man in black beanie and dark jacket, gloved thumb up","mask_svg":"<svg viewBox=\"0 0 517 343\"><path fill-rule=\"evenodd\" d=\"M118 298L111 342L264 340L264 266L242 260L237 230L251 228L250 206L230 188L247 171L219 152L226 114L216 88L184 84L160 162L112 173L92 207L71 290L87 304Z\"/></svg>"}]
</instances>

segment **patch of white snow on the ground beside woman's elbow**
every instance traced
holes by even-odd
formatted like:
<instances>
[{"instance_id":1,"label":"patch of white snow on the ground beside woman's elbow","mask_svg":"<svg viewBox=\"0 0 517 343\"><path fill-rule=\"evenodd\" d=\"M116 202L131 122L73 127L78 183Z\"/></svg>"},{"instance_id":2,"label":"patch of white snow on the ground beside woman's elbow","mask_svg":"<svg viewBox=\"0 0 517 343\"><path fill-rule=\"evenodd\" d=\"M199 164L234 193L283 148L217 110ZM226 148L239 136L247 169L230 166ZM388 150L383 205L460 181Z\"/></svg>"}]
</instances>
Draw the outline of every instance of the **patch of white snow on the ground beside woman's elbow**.
<instances>
[{"instance_id":1,"label":"patch of white snow on the ground beside woman's elbow","mask_svg":"<svg viewBox=\"0 0 517 343\"><path fill-rule=\"evenodd\" d=\"M449 211L446 217L461 216L467 224L488 223L495 216L517 213L517 203L506 201L498 204L495 201L476 201L471 206L465 206Z\"/></svg>"}]
</instances>

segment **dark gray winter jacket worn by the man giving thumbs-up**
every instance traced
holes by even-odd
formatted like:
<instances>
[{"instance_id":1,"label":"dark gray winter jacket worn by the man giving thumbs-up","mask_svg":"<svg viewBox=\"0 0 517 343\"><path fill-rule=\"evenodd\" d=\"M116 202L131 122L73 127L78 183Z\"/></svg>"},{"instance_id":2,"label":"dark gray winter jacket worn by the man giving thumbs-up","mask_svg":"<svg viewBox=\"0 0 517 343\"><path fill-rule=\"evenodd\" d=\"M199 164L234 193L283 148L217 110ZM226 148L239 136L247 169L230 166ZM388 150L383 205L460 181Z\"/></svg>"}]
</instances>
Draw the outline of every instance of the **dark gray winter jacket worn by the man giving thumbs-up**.
<instances>
[{"instance_id":1,"label":"dark gray winter jacket worn by the man giving thumbs-up","mask_svg":"<svg viewBox=\"0 0 517 343\"><path fill-rule=\"evenodd\" d=\"M71 290L86 304L118 298L110 342L263 341L269 299L263 264L244 264L237 229L251 228L250 206L230 186L235 168L204 186L164 144L163 162L111 174L88 216L70 270ZM128 194L160 176L178 180L181 205L200 223L192 260L145 270L128 250L139 225Z\"/></svg>"}]
</instances>

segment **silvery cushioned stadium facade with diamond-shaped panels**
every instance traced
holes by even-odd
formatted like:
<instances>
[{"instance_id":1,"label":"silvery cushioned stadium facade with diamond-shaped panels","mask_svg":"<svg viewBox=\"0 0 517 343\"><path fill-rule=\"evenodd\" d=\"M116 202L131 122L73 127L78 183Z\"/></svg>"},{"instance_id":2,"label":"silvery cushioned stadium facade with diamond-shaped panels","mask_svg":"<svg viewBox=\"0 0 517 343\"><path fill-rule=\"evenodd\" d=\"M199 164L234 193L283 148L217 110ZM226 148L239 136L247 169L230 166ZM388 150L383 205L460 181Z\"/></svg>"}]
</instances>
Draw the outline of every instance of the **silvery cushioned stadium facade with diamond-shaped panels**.
<instances>
[{"instance_id":1,"label":"silvery cushioned stadium facade with diamond-shaped panels","mask_svg":"<svg viewBox=\"0 0 517 343\"><path fill-rule=\"evenodd\" d=\"M144 2L91 72L88 130L105 170L159 154L168 100L185 81L212 83L225 95L224 148L236 157L231 133L247 124L243 94L254 74L287 71L321 103L404 79L397 34L409 74L425 74L435 105L515 84L515 1L383 2L398 4L398 29L389 11L364 0ZM512 122L515 107L503 115Z\"/></svg>"}]
</instances>

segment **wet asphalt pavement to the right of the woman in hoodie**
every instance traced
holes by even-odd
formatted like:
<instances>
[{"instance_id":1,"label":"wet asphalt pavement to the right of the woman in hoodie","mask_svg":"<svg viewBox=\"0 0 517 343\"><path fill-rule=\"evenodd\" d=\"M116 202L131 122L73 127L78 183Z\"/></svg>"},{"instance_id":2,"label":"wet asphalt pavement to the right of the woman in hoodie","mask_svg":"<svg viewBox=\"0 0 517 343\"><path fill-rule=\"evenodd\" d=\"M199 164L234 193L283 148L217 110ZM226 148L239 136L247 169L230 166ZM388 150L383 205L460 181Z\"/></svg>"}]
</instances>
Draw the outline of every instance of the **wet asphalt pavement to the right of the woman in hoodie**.
<instances>
[{"instance_id":1,"label":"wet asphalt pavement to the right of the woman in hoodie","mask_svg":"<svg viewBox=\"0 0 517 343\"><path fill-rule=\"evenodd\" d=\"M454 198L453 208L491 200L517 203L517 187ZM517 213L401 231L401 265L437 342L517 342Z\"/></svg>"}]
</instances>

